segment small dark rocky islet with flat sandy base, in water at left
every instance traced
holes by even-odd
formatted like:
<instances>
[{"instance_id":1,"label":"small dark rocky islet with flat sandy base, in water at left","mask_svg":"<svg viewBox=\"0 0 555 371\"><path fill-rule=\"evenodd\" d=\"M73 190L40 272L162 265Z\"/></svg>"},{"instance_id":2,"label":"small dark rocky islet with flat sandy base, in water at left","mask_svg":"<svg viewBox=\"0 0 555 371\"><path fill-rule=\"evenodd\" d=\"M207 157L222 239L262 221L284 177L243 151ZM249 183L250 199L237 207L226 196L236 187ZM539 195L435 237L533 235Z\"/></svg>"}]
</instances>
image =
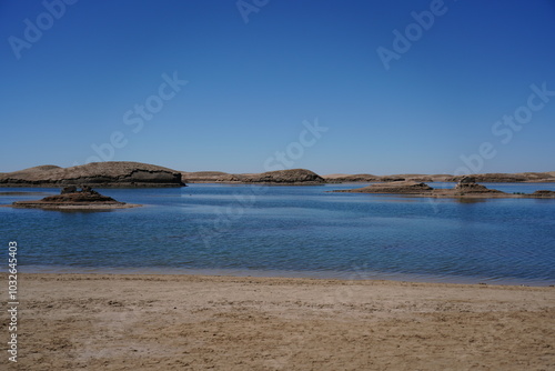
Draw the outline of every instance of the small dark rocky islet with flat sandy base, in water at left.
<instances>
[{"instance_id":1,"label":"small dark rocky islet with flat sandy base, in water at left","mask_svg":"<svg viewBox=\"0 0 555 371\"><path fill-rule=\"evenodd\" d=\"M80 189L79 189L80 188ZM102 195L89 186L69 186L60 194L49 195L37 201L17 201L13 208L48 209L48 210L108 210L129 209L140 204L119 202L108 195Z\"/></svg>"}]
</instances>

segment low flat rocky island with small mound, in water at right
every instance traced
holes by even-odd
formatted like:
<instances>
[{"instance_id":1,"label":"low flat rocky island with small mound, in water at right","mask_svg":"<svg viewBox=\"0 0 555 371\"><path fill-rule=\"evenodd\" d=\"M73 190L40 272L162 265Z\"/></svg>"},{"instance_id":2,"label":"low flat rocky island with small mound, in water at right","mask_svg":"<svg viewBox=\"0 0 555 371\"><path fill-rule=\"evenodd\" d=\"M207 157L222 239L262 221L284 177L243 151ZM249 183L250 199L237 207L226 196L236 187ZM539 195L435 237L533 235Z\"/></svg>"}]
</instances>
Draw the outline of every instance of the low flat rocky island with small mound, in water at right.
<instances>
[{"instance_id":1,"label":"low flat rocky island with small mound, in water at right","mask_svg":"<svg viewBox=\"0 0 555 371\"><path fill-rule=\"evenodd\" d=\"M534 193L506 193L476 183L474 177L464 177L452 189L434 189L426 183L416 181L392 181L375 183L363 188L336 190L333 192L376 193L376 194L405 194L412 197L456 198L456 199L484 199L484 198L555 198L555 191L539 190Z\"/></svg>"}]
</instances>

